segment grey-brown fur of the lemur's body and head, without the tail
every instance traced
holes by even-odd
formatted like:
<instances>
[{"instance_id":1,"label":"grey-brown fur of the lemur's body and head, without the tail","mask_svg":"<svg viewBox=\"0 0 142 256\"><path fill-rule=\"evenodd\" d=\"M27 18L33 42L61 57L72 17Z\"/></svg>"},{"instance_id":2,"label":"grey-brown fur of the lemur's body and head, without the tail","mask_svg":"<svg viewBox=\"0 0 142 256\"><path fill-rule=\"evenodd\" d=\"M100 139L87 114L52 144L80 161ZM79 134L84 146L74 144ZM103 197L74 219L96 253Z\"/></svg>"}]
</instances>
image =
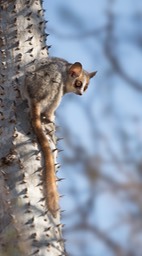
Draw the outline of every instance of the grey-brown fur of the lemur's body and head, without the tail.
<instances>
[{"instance_id":1,"label":"grey-brown fur of the lemur's body and head, without the tail","mask_svg":"<svg viewBox=\"0 0 142 256\"><path fill-rule=\"evenodd\" d=\"M79 65L80 63L77 62ZM75 65L75 64L73 64ZM80 64L81 65L81 64ZM50 115L51 120L54 119L54 111L58 107L62 96L65 93L74 92L82 94L82 88L75 88L74 83L78 74L70 74L72 64L60 58L48 58L45 64L42 64L34 72L27 72L26 74L26 98L29 105L31 100L41 103L41 113L45 116ZM95 75L95 72L91 73ZM89 83L90 73L84 71L80 72L80 78L86 78L86 84ZM49 118L49 119L50 119Z\"/></svg>"}]
</instances>

